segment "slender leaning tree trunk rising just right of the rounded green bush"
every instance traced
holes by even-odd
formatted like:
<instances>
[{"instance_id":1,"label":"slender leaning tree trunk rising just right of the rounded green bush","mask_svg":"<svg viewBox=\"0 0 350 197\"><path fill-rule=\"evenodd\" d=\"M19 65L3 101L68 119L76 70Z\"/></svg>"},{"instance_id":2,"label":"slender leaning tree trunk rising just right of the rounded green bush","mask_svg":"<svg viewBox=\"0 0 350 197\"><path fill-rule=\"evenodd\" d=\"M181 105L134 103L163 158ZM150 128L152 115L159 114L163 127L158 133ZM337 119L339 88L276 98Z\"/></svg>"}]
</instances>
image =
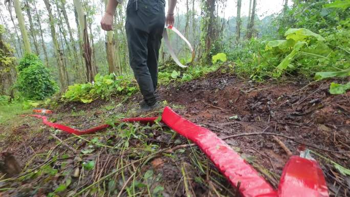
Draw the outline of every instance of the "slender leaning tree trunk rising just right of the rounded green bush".
<instances>
[{"instance_id":1,"label":"slender leaning tree trunk rising just right of the rounded green bush","mask_svg":"<svg viewBox=\"0 0 350 197\"><path fill-rule=\"evenodd\" d=\"M54 47L54 54L55 54L55 57L57 59L59 81L61 84L61 91L64 92L65 89L67 89L67 87L68 87L67 71L64 67L63 54L62 54L61 49L59 48L57 37L56 37L56 30L55 30L55 24L54 24L52 11L51 11L51 5L49 3L49 0L43 0L43 1L45 3L45 6L46 6L48 13L49 13L51 37L52 37L52 42L53 42L53 47Z\"/></svg>"}]
</instances>

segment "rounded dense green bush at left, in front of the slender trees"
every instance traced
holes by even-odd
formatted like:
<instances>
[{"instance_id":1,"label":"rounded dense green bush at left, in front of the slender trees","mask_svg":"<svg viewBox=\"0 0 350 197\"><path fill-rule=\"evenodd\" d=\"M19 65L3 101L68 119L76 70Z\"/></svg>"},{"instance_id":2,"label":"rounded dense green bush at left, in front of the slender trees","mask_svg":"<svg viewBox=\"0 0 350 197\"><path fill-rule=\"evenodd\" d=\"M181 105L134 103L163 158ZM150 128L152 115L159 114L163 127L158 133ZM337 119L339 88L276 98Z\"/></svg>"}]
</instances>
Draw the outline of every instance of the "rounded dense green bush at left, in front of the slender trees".
<instances>
[{"instance_id":1,"label":"rounded dense green bush at left, in front of the slender trees","mask_svg":"<svg viewBox=\"0 0 350 197\"><path fill-rule=\"evenodd\" d=\"M25 98L42 100L58 90L49 70L34 54L25 54L17 70L19 73L16 87Z\"/></svg>"}]
</instances>

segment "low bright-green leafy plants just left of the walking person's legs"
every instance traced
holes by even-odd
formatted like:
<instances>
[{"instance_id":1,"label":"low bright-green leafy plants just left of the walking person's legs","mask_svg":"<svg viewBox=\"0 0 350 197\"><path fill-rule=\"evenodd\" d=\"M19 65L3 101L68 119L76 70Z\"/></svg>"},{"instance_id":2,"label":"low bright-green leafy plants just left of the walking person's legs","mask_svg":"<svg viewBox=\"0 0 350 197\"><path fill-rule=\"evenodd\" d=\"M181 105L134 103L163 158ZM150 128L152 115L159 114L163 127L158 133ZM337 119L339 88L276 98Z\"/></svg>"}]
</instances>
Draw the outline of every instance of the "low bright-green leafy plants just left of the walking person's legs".
<instances>
[{"instance_id":1,"label":"low bright-green leafy plants just left of the walking person's legs","mask_svg":"<svg viewBox=\"0 0 350 197\"><path fill-rule=\"evenodd\" d=\"M74 84L62 95L63 101L79 101L90 103L98 98L111 99L113 95L132 95L137 91L135 83L130 83L132 79L119 76L114 79L114 75L101 76L97 74L94 83Z\"/></svg>"}]
</instances>

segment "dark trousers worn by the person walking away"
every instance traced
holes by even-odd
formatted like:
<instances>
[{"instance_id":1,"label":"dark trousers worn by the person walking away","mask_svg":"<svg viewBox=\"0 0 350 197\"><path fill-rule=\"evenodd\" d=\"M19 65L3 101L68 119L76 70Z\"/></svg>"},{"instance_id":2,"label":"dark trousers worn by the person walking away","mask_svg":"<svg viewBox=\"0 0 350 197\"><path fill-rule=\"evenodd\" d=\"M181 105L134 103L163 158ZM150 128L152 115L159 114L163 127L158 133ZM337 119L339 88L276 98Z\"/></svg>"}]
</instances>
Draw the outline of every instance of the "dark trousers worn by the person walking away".
<instances>
[{"instance_id":1,"label":"dark trousers worn by the person walking away","mask_svg":"<svg viewBox=\"0 0 350 197\"><path fill-rule=\"evenodd\" d=\"M158 56L164 25L164 0L129 0L125 30L130 67L148 105L157 101Z\"/></svg>"}]
</instances>

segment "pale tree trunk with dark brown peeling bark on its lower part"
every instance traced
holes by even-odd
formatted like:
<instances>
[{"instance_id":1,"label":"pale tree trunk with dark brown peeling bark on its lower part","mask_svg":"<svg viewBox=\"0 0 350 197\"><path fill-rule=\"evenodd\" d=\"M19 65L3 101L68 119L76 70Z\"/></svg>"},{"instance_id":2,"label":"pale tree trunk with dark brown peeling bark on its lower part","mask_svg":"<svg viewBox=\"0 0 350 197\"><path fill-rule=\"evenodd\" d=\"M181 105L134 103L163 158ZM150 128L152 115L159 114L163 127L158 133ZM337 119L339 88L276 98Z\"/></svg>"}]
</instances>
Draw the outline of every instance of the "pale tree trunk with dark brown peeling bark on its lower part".
<instances>
[{"instance_id":1,"label":"pale tree trunk with dark brown peeling bark on its lower part","mask_svg":"<svg viewBox=\"0 0 350 197\"><path fill-rule=\"evenodd\" d=\"M80 39L83 42L83 57L85 59L86 67L86 78L88 81L92 82L95 75L97 74L96 67L92 64L91 61L91 47L88 35L88 28L86 27L86 15L84 14L82 4L80 0L73 0L74 7L76 8L79 25L80 25Z\"/></svg>"}]
</instances>

